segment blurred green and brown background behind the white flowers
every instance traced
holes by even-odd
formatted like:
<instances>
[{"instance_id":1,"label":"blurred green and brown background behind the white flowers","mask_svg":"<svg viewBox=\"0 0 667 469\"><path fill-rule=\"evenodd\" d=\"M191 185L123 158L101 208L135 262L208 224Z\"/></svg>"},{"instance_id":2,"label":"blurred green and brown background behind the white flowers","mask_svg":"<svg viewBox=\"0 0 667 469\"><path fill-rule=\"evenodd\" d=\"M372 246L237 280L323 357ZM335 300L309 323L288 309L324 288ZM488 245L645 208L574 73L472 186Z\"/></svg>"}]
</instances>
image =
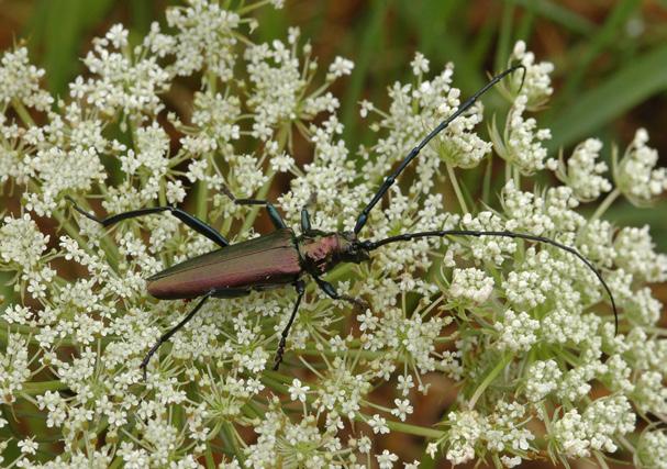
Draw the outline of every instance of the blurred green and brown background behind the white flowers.
<instances>
[{"instance_id":1,"label":"blurred green and brown background behind the white flowers","mask_svg":"<svg viewBox=\"0 0 667 469\"><path fill-rule=\"evenodd\" d=\"M46 69L46 86L67 93L82 71L90 40L122 22L135 40L152 21L164 22L165 0L0 0L0 47L26 41L33 60ZM638 0L287 0L284 10L258 12L258 41L285 37L301 27L322 64L336 55L353 59L353 76L337 85L349 148L369 142L357 102L385 103L386 88L409 80L414 52L431 60L432 72L456 64L455 85L464 96L489 71L507 64L512 45L524 40L541 60L556 66L555 93L537 114L553 130L552 156L588 136L623 148L644 126L651 145L667 161L667 1ZM488 114L501 103L485 98ZM300 159L307 159L304 155ZM651 223L667 250L667 204L636 209L618 202L608 216L621 224ZM586 210L586 208L583 208Z\"/></svg>"}]
</instances>

